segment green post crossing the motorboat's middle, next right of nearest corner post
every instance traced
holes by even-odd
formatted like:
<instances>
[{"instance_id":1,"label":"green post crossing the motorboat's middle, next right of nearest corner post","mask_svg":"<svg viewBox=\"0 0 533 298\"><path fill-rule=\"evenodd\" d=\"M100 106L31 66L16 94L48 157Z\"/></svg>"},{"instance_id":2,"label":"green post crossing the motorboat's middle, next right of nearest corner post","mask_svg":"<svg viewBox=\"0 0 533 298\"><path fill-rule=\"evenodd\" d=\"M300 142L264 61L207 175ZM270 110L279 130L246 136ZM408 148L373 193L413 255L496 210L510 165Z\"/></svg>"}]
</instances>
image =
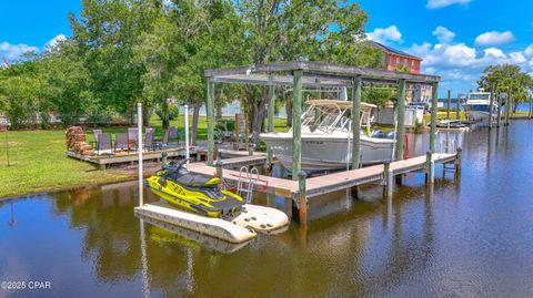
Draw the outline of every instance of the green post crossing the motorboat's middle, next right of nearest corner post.
<instances>
[{"instance_id":1,"label":"green post crossing the motorboat's middle, next right of nearest corner post","mask_svg":"<svg viewBox=\"0 0 533 298\"><path fill-rule=\"evenodd\" d=\"M361 156L361 75L353 78L352 89L352 168L359 168Z\"/></svg>"}]
</instances>

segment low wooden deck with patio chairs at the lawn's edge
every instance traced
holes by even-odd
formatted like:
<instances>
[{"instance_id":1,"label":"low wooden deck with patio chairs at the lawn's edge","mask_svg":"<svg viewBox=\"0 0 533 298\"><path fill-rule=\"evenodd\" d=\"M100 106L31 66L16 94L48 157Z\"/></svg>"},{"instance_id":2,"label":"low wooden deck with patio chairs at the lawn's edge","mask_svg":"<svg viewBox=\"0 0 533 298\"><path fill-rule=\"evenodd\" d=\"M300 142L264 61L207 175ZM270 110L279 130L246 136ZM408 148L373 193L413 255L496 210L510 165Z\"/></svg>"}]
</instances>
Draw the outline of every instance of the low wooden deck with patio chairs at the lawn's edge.
<instances>
[{"instance_id":1,"label":"low wooden deck with patio chairs at the lawn's edge","mask_svg":"<svg viewBox=\"0 0 533 298\"><path fill-rule=\"evenodd\" d=\"M190 147L189 152L190 154L197 154L197 150L193 146ZM163 153L167 154L167 157L179 157L179 156L185 155L185 148L177 147L177 148L168 148L168 150L160 150L160 151L148 151L143 153L142 160L160 161L162 158ZM111 155L81 155L76 152L67 151L67 156L94 164L100 169L104 169L108 165L132 163L132 162L139 161L139 155L137 152L111 154Z\"/></svg>"}]
</instances>

